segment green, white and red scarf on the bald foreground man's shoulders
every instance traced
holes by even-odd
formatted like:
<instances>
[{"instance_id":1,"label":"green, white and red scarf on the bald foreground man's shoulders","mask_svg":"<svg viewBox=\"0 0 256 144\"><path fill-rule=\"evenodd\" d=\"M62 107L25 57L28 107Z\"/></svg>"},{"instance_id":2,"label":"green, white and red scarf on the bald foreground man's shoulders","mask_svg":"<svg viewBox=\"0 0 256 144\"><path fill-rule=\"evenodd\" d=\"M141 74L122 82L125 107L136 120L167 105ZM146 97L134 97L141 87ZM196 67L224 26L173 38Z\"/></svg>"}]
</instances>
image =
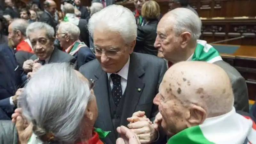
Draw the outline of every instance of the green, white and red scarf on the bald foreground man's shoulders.
<instances>
[{"instance_id":1,"label":"green, white and red scarf on the bald foreground man's shoulders","mask_svg":"<svg viewBox=\"0 0 256 144\"><path fill-rule=\"evenodd\" d=\"M167 144L255 144L256 125L232 111L173 135Z\"/></svg>"}]
</instances>

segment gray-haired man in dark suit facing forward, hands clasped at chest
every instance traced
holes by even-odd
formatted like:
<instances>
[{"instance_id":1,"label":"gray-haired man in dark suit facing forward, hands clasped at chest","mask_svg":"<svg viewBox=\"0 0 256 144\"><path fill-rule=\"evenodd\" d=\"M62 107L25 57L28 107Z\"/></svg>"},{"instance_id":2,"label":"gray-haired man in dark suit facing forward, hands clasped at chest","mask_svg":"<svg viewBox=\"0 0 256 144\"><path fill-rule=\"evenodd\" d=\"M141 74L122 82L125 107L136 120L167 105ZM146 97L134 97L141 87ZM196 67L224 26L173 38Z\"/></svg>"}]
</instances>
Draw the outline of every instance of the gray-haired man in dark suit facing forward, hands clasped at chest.
<instances>
[{"instance_id":1,"label":"gray-haired man in dark suit facing forward, hands clasped at chest","mask_svg":"<svg viewBox=\"0 0 256 144\"><path fill-rule=\"evenodd\" d=\"M43 22L34 22L28 26L26 35L35 54L23 63L25 72L35 72L36 69L47 63L69 62L76 64L75 57L54 48L54 34L54 29Z\"/></svg>"}]
</instances>

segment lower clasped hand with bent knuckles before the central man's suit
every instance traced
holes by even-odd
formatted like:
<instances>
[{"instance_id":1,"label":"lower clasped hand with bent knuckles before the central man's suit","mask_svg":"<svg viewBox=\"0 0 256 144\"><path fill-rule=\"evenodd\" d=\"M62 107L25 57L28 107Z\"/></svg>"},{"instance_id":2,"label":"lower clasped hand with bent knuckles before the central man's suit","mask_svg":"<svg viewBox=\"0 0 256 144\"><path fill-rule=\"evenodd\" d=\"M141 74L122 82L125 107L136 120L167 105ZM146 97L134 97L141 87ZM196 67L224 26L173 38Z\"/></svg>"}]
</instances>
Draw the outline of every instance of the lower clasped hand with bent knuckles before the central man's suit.
<instances>
[{"instance_id":1,"label":"lower clasped hand with bent knuckles before the central man's suit","mask_svg":"<svg viewBox=\"0 0 256 144\"><path fill-rule=\"evenodd\" d=\"M134 122L127 125L132 132L137 134L140 143L150 143L157 138L157 131L154 129L154 125L147 120Z\"/></svg>"}]
</instances>

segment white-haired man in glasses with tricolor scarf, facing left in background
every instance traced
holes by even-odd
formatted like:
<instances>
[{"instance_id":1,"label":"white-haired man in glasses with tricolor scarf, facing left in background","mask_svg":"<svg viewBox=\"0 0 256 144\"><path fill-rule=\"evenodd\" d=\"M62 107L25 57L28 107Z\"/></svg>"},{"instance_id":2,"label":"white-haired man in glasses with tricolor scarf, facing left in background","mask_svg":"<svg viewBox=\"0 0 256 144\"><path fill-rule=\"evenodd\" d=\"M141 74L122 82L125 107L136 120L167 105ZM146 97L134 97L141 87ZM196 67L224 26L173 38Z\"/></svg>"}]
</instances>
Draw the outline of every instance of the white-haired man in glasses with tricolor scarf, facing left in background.
<instances>
[{"instance_id":1,"label":"white-haired man in glasses with tricolor scarf, facing left in background","mask_svg":"<svg viewBox=\"0 0 256 144\"><path fill-rule=\"evenodd\" d=\"M95 59L91 49L79 40L79 36L79 28L71 22L61 22L56 33L60 46L76 58L76 68Z\"/></svg>"}]
</instances>

